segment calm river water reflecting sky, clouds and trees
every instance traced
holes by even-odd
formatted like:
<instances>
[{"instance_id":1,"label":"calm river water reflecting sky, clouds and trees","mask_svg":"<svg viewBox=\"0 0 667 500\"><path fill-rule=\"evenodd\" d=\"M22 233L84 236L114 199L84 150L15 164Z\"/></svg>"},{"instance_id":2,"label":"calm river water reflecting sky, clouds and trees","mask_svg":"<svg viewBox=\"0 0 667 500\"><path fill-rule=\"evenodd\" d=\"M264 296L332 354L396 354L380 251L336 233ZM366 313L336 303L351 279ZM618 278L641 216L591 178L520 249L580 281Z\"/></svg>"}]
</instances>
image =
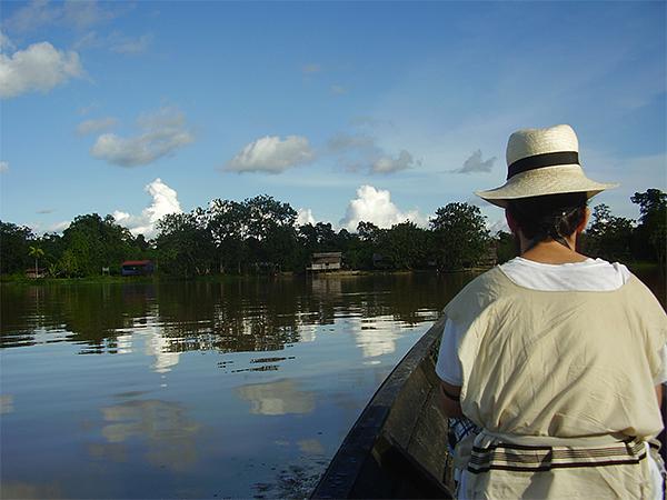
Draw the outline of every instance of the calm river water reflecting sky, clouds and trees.
<instances>
[{"instance_id":1,"label":"calm river water reflecting sky, clouds and trees","mask_svg":"<svg viewBox=\"0 0 667 500\"><path fill-rule=\"evenodd\" d=\"M305 497L471 278L2 286L0 494Z\"/></svg>"}]
</instances>

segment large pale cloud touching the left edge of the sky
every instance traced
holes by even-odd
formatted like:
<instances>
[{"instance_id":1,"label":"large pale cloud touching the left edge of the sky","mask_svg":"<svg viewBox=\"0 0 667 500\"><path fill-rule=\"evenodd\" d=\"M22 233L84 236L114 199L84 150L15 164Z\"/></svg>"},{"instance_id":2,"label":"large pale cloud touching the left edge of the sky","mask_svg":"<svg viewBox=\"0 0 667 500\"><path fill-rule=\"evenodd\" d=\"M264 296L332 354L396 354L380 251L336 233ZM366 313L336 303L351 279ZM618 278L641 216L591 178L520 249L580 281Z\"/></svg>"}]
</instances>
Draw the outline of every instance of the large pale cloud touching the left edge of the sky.
<instances>
[{"instance_id":1,"label":"large pale cloud touching the left edge of the sky","mask_svg":"<svg viewBox=\"0 0 667 500\"><path fill-rule=\"evenodd\" d=\"M0 98L24 92L48 92L84 74L79 54L61 51L49 42L33 43L12 56L0 53Z\"/></svg>"}]
</instances>

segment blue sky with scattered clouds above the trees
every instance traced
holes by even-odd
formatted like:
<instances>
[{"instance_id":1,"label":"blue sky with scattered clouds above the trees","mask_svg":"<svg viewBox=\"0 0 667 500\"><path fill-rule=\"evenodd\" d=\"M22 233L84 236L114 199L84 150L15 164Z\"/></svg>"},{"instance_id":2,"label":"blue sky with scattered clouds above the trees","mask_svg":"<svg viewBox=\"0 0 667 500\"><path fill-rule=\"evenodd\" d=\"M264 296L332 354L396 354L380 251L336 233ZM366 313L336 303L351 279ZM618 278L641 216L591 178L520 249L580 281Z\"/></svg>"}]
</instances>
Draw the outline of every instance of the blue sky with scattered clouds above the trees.
<instances>
[{"instance_id":1,"label":"blue sky with scattered clouds above the trees","mask_svg":"<svg viewBox=\"0 0 667 500\"><path fill-rule=\"evenodd\" d=\"M1 2L0 217L151 236L267 193L336 227L451 201L495 223L472 191L508 136L569 123L621 183L593 204L636 218L667 189L665 24L664 2Z\"/></svg>"}]
</instances>

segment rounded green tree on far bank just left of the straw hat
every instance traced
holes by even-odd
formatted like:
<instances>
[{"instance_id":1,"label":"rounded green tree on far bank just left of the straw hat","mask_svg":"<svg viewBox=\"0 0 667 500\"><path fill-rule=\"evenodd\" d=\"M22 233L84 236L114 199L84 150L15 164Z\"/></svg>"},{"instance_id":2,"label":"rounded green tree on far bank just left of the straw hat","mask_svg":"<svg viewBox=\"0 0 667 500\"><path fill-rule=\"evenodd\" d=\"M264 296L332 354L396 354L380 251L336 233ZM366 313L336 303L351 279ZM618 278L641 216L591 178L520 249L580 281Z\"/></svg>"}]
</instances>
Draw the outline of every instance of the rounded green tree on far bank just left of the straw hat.
<instances>
[{"instance_id":1,"label":"rounded green tree on far bank just left of the straw hat","mask_svg":"<svg viewBox=\"0 0 667 500\"><path fill-rule=\"evenodd\" d=\"M429 224L435 233L435 258L440 270L475 266L488 249L489 231L478 207L448 203L436 210Z\"/></svg>"}]
</instances>

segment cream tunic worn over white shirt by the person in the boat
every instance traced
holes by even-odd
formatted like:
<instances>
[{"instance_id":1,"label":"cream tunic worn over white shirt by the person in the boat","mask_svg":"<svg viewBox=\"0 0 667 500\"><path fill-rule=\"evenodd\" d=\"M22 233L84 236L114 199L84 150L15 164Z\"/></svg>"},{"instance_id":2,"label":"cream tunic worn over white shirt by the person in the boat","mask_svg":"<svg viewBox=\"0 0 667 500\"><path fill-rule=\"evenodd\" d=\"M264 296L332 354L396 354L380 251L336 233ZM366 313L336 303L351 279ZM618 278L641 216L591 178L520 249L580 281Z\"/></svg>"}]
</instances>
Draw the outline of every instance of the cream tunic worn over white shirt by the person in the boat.
<instances>
[{"instance_id":1,"label":"cream tunic worn over white shirt by the person in the boat","mask_svg":"<svg viewBox=\"0 0 667 500\"><path fill-rule=\"evenodd\" d=\"M667 317L637 278L609 291L539 291L495 268L469 283L445 314L464 331L456 347L462 411L485 429L478 451L472 449L476 460L504 442L552 444L564 450L558 453L576 456L591 453L586 444L591 439L595 446L618 447L613 442L624 436L641 442L661 430L653 388L663 366ZM534 473L504 470L502 461L487 472L472 472L474 467L465 473L465 494L651 498L657 493L653 461L641 458L643 450L633 446L637 461L613 467Z\"/></svg>"}]
</instances>

